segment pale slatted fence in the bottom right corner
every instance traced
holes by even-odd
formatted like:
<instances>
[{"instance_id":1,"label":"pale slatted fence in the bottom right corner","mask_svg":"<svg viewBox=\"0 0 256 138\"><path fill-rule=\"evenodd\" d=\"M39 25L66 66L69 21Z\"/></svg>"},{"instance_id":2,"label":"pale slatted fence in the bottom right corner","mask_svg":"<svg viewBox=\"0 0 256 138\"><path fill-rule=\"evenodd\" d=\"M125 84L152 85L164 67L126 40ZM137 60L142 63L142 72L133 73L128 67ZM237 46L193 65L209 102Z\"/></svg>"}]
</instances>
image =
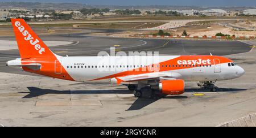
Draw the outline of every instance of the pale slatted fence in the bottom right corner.
<instances>
[{"instance_id":1,"label":"pale slatted fence in the bottom right corner","mask_svg":"<svg viewBox=\"0 0 256 138\"><path fill-rule=\"evenodd\" d=\"M256 125L256 113L248 115L246 117L226 122L218 125L217 127L255 127Z\"/></svg>"}]
</instances>

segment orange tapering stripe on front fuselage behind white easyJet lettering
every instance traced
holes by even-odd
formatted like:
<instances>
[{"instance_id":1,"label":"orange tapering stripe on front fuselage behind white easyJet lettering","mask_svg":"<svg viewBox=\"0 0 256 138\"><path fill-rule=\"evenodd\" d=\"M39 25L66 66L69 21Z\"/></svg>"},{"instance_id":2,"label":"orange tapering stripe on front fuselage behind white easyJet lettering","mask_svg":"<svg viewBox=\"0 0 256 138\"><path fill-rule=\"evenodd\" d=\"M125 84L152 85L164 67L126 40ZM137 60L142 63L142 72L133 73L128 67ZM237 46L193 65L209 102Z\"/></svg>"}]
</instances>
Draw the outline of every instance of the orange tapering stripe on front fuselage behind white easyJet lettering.
<instances>
[{"instance_id":1,"label":"orange tapering stripe on front fuselage behind white easyJet lettering","mask_svg":"<svg viewBox=\"0 0 256 138\"><path fill-rule=\"evenodd\" d=\"M229 62L233 62L231 59L225 58L225 57L219 57L219 56L212 56L212 55L181 55L180 57L174 58L174 59L170 59L168 61L164 61L164 62L160 62L159 63L159 71L157 72L164 72L164 71L171 71L171 70L181 70L181 69L185 69L185 68L193 68L193 63L191 64L180 64L181 66L179 66L179 64L177 63L178 61L207 61L208 59L210 59L210 63L208 64L195 64L198 65L200 67L203 65L214 65L213 59L220 59L220 63L229 63ZM129 76L129 75L139 75L139 74L148 74L148 73L152 73L152 72L156 72L156 71L151 71L148 67L151 66L156 66L156 64L151 64L149 66L147 66L146 70L143 69L143 67L140 68L135 68L133 70L129 70L129 71L124 71L124 72L119 72L118 74L113 74L113 75L109 75L109 76L105 76L105 77L100 77L97 79L93 79L90 81L94 81L94 80L103 80L103 79L111 79L113 77L123 77L123 76ZM171 65L171 67L169 67ZM175 67L172 67L172 65L174 65ZM177 67L176 67L177 65ZM189 66L191 65L191 66ZM164 66L164 67L163 67ZM166 67L167 66L167 67ZM187 67L188 66L188 67Z\"/></svg>"}]
</instances>

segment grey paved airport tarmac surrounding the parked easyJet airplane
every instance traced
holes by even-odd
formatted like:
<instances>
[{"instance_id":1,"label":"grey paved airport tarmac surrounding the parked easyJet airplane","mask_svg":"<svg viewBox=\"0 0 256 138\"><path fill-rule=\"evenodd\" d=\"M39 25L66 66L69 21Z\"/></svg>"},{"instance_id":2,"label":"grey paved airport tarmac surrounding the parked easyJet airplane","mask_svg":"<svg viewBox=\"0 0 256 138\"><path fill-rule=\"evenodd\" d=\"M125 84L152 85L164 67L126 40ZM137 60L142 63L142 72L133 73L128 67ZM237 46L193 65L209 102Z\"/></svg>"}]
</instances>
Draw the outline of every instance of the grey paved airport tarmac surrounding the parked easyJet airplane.
<instances>
[{"instance_id":1,"label":"grey paved airport tarmac surrounding the parked easyJet airplane","mask_svg":"<svg viewBox=\"0 0 256 138\"><path fill-rule=\"evenodd\" d=\"M32 75L6 67L18 50L0 51L0 124L3 126L217 126L256 111L255 41L197 41L112 38L89 33L40 36L71 41L51 46L59 55L97 55L115 46L122 51L161 55L224 55L246 74L218 81L218 92L186 83L185 93L160 100L137 99L123 85L77 83ZM0 40L14 41L13 37Z\"/></svg>"}]
</instances>

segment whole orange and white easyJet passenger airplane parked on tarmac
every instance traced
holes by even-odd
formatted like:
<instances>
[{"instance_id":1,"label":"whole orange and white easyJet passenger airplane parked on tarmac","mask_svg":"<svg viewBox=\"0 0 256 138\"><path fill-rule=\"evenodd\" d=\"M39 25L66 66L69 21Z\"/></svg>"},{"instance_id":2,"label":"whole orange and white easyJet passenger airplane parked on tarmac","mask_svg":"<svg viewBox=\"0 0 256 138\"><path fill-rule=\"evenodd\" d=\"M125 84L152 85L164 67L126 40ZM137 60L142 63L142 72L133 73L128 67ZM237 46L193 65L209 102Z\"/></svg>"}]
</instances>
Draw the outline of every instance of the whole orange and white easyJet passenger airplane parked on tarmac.
<instances>
[{"instance_id":1,"label":"whole orange and white easyJet passenger airplane parked on tarmac","mask_svg":"<svg viewBox=\"0 0 256 138\"><path fill-rule=\"evenodd\" d=\"M235 79L245 74L245 70L231 59L212 54L104 57L109 62L102 62L102 58L96 56L61 57L40 40L26 21L11 19L11 23L20 58L7 61L6 66L63 80L122 84L138 98L183 94L185 81L199 81L200 87L215 92L216 81ZM148 60L156 58L158 60Z\"/></svg>"}]
</instances>

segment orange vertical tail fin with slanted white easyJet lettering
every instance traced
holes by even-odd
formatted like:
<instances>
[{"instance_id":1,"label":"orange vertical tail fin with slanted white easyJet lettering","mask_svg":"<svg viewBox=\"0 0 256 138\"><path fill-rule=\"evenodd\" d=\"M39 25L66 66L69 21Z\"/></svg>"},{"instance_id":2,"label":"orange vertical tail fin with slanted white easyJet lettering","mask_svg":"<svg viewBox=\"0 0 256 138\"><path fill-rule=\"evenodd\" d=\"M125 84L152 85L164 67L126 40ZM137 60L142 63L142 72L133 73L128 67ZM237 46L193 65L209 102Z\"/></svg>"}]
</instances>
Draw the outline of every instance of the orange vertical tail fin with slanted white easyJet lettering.
<instances>
[{"instance_id":1,"label":"orange vertical tail fin with slanted white easyJet lettering","mask_svg":"<svg viewBox=\"0 0 256 138\"><path fill-rule=\"evenodd\" d=\"M54 56L23 19L11 19L22 59Z\"/></svg>"}]
</instances>

